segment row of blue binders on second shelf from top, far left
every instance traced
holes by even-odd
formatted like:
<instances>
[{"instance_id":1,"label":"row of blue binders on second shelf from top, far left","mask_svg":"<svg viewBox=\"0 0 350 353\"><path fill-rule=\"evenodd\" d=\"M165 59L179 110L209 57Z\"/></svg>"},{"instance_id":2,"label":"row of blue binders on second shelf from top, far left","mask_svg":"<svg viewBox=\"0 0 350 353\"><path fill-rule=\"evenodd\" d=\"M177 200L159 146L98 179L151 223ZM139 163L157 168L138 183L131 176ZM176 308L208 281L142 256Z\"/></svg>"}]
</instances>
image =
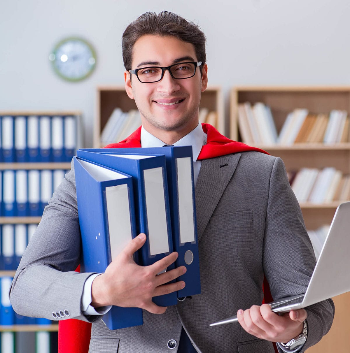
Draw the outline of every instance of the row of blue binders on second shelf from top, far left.
<instances>
[{"instance_id":1,"label":"row of blue binders on second shelf from top, far left","mask_svg":"<svg viewBox=\"0 0 350 353\"><path fill-rule=\"evenodd\" d=\"M64 169L0 170L1 216L41 216L65 173Z\"/></svg>"}]
</instances>

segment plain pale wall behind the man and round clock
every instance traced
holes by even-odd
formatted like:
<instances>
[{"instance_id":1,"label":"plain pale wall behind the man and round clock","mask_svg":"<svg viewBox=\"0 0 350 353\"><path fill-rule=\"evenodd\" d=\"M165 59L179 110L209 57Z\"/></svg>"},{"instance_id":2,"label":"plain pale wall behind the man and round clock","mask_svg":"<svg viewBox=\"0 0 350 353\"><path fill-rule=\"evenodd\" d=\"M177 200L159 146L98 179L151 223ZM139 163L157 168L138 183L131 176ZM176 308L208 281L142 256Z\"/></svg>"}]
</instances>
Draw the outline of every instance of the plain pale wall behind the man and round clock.
<instances>
[{"instance_id":1,"label":"plain pale wall behind the man and round clock","mask_svg":"<svg viewBox=\"0 0 350 353\"><path fill-rule=\"evenodd\" d=\"M0 110L81 110L92 145L95 87L123 84L120 37L146 11L168 10L207 36L209 84L349 85L347 0L1 0ZM97 52L86 80L69 83L48 55L66 36ZM226 112L228 114L228 112Z\"/></svg>"}]
</instances>

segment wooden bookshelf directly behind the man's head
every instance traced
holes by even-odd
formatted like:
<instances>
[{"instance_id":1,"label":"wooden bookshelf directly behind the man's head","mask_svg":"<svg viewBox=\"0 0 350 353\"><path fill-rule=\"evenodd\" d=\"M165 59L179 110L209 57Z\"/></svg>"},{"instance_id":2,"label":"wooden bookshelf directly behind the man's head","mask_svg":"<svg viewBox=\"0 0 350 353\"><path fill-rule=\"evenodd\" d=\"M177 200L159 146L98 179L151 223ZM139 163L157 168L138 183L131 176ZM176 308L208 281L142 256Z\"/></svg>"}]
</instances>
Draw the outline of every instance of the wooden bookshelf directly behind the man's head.
<instances>
[{"instance_id":1,"label":"wooden bookshelf directly behind the man's head","mask_svg":"<svg viewBox=\"0 0 350 353\"><path fill-rule=\"evenodd\" d=\"M103 147L100 142L101 132L115 108L120 108L123 112L137 109L135 101L127 96L124 86L97 86L94 148ZM211 86L202 92L200 108L207 108L217 113L217 128L225 134L224 100L221 87Z\"/></svg>"}]
</instances>

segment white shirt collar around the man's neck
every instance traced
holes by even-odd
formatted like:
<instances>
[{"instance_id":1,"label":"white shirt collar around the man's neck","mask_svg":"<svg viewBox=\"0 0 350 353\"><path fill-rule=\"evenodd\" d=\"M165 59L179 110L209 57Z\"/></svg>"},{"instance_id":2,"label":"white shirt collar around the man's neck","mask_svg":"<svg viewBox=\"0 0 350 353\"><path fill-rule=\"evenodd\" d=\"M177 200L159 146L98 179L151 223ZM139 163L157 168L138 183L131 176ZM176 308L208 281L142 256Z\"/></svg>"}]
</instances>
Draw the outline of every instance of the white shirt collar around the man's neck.
<instances>
[{"instance_id":1,"label":"white shirt collar around the man's neck","mask_svg":"<svg viewBox=\"0 0 350 353\"><path fill-rule=\"evenodd\" d=\"M206 143L207 134L202 129L201 122L186 136L173 143L174 146L192 146L193 161L196 162L202 146ZM153 136L141 127L141 147L162 147L165 142Z\"/></svg>"}]
</instances>

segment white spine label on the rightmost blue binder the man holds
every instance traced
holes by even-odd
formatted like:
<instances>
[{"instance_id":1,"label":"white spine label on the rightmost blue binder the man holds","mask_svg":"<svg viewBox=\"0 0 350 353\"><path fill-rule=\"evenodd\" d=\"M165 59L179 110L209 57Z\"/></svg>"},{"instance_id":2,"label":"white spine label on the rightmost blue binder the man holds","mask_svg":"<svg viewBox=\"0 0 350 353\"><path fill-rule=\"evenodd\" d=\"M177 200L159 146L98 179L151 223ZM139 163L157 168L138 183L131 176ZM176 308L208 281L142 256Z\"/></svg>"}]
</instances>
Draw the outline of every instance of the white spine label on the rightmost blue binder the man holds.
<instances>
[{"instance_id":1,"label":"white spine label on the rightmost blue binder the man holds","mask_svg":"<svg viewBox=\"0 0 350 353\"><path fill-rule=\"evenodd\" d=\"M191 158L176 158L180 243L195 241Z\"/></svg>"}]
</instances>

